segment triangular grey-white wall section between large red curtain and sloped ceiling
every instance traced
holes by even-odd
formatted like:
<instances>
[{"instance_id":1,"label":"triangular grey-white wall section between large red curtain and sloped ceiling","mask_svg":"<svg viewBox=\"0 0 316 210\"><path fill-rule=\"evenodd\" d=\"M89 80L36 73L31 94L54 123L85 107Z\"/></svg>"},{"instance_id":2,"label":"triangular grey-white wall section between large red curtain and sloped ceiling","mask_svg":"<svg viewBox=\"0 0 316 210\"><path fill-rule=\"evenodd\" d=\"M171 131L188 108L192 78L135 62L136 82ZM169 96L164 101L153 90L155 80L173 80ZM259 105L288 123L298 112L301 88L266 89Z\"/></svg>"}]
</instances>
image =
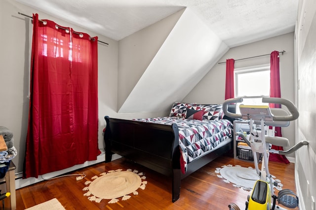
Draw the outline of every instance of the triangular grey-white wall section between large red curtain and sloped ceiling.
<instances>
[{"instance_id":1,"label":"triangular grey-white wall section between large red curtain and sloped ceiling","mask_svg":"<svg viewBox=\"0 0 316 210\"><path fill-rule=\"evenodd\" d=\"M154 59L184 10L118 41L118 109Z\"/></svg>"}]
</instances>

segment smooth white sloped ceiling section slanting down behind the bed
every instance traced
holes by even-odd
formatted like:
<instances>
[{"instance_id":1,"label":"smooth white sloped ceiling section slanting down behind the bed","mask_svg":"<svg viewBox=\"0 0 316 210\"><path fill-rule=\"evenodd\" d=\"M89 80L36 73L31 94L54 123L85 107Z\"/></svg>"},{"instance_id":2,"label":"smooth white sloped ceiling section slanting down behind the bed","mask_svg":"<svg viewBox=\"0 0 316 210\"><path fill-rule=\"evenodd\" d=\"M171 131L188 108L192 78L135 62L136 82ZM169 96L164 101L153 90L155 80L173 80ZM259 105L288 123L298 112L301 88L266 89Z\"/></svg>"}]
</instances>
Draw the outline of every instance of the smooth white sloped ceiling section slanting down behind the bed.
<instances>
[{"instance_id":1,"label":"smooth white sloped ceiling section slanting down behind the bed","mask_svg":"<svg viewBox=\"0 0 316 210\"><path fill-rule=\"evenodd\" d=\"M181 101L228 49L186 8L118 112L167 110Z\"/></svg>"}]
</instances>

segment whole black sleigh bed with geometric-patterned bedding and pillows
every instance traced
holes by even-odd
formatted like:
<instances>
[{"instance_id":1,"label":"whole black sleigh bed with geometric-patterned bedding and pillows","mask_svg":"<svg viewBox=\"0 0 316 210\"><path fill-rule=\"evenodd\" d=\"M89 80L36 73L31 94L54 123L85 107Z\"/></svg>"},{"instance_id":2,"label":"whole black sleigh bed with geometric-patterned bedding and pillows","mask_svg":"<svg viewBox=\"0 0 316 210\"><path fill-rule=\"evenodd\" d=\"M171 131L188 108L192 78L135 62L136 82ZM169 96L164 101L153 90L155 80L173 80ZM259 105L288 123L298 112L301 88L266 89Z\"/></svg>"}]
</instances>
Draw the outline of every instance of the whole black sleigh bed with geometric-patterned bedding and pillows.
<instances>
[{"instance_id":1,"label":"whole black sleigh bed with geometric-patterned bedding and pillows","mask_svg":"<svg viewBox=\"0 0 316 210\"><path fill-rule=\"evenodd\" d=\"M229 105L235 113L235 106ZM172 202L181 180L233 148L233 120L222 105L174 103L169 117L105 117L106 162L117 153L172 179Z\"/></svg>"}]
</instances>

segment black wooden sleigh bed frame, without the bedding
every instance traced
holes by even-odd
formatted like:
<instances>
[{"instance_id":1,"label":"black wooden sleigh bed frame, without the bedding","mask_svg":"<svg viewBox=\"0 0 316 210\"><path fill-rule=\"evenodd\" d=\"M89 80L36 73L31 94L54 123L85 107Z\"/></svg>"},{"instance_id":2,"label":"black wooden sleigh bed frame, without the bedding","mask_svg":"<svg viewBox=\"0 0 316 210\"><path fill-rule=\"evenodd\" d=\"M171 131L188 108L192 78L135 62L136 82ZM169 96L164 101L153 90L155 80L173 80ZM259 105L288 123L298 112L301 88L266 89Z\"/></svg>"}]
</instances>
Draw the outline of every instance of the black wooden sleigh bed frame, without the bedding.
<instances>
[{"instance_id":1,"label":"black wooden sleigh bed frame, without the bedding","mask_svg":"<svg viewBox=\"0 0 316 210\"><path fill-rule=\"evenodd\" d=\"M232 112L232 111L231 111ZM233 138L188 163L186 174L180 169L179 132L172 125L105 117L105 162L117 153L172 179L172 202L180 197L181 180L233 148Z\"/></svg>"}]
</instances>

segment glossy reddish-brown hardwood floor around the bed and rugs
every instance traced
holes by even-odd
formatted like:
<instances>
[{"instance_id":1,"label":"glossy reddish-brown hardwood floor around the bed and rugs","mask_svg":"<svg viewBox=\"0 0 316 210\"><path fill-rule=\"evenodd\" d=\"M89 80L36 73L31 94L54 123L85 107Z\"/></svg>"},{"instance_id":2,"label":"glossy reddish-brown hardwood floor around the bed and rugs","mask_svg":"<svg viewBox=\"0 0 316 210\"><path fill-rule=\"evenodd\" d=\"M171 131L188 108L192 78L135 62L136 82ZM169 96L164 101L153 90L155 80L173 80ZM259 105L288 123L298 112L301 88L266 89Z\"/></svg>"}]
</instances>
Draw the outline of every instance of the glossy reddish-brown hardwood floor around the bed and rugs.
<instances>
[{"instance_id":1,"label":"glossy reddish-brown hardwood floor around the bed and rugs","mask_svg":"<svg viewBox=\"0 0 316 210\"><path fill-rule=\"evenodd\" d=\"M250 192L235 188L232 183L224 182L214 173L217 167L228 164L254 167L251 162L236 160L226 155L217 158L183 179L180 199L172 203L170 178L121 158L73 172L73 174L85 173L86 177L83 180L77 181L76 176L68 176L18 189L16 191L17 210L24 210L53 198L57 198L66 210L228 210L228 205L232 202L244 210L245 201ZM86 180L116 169L136 169L143 172L148 181L146 188L138 189L138 195L132 195L126 201L119 199L119 202L115 204L108 204L109 200L102 200L100 203L91 202L83 196L82 189L85 187ZM269 162L269 169L271 174L281 180L283 189L291 189L295 192L293 163Z\"/></svg>"}]
</instances>

